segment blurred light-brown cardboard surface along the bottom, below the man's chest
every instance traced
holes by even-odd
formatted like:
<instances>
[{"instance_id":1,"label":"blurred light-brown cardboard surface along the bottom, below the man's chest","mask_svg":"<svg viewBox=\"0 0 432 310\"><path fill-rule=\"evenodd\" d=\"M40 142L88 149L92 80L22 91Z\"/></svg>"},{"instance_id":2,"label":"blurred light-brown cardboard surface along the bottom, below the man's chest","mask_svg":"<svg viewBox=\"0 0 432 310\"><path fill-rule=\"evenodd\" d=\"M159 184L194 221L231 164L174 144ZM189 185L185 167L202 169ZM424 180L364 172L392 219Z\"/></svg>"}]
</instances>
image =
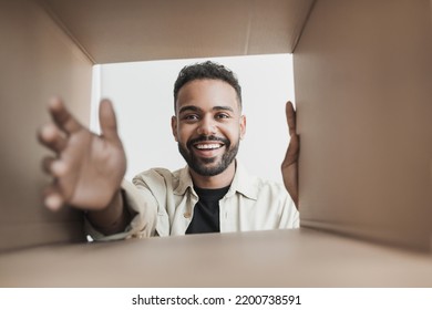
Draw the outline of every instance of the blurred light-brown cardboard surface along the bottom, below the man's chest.
<instances>
[{"instance_id":1,"label":"blurred light-brown cardboard surface along the bottom, below the man's chest","mask_svg":"<svg viewBox=\"0 0 432 310\"><path fill-rule=\"evenodd\" d=\"M432 287L430 255L310 229L203 234L0 256L0 287Z\"/></svg>"}]
</instances>

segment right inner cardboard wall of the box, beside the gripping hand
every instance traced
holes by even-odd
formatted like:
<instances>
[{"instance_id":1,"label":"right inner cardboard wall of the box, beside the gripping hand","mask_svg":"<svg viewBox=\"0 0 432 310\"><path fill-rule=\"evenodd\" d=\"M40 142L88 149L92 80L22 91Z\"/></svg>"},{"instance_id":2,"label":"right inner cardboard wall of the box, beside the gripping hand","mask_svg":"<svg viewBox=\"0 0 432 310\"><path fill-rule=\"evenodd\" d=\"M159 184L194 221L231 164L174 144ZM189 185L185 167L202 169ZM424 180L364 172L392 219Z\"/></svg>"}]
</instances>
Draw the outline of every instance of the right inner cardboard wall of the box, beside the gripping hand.
<instances>
[{"instance_id":1,"label":"right inner cardboard wall of the box, beside the gripping hand","mask_svg":"<svg viewBox=\"0 0 432 310\"><path fill-rule=\"evenodd\" d=\"M430 6L316 2L294 53L302 226L430 249Z\"/></svg>"}]
</instances>

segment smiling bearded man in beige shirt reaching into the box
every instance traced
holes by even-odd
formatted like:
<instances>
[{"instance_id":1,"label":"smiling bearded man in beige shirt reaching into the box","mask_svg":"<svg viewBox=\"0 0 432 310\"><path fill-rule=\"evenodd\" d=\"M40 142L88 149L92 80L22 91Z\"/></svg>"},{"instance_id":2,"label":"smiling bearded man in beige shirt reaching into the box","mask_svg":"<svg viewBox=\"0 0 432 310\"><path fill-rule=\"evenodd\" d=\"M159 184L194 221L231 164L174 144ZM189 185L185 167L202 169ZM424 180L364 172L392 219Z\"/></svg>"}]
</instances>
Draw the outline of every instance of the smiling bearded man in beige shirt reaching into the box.
<instances>
[{"instance_id":1,"label":"smiling bearded man in beige shirt reaching into the box","mask_svg":"<svg viewBox=\"0 0 432 310\"><path fill-rule=\"evenodd\" d=\"M54 99L54 124L39 134L56 154L43 161L54 177L47 207L85 210L89 232L101 240L298 227L292 200L298 204L299 140L291 103L286 107L291 142L281 166L286 188L249 176L235 159L246 118L232 71L213 62L185 66L175 82L174 108L172 131L187 167L150 169L133 186L123 180L126 159L111 102L101 102L97 136Z\"/></svg>"}]
</instances>

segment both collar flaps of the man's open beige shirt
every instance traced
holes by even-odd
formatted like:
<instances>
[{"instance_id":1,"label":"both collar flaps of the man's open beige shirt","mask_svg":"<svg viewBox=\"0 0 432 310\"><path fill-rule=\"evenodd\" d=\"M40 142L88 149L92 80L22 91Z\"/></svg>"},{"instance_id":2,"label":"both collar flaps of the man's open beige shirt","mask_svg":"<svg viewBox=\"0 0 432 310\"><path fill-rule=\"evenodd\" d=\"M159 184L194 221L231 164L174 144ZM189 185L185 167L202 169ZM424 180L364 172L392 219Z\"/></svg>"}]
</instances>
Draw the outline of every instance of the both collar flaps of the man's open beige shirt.
<instances>
[{"instance_id":1,"label":"both collar flaps of the man's open beige shirt","mask_svg":"<svg viewBox=\"0 0 432 310\"><path fill-rule=\"evenodd\" d=\"M181 169L178 178L178 186L174 188L174 194L184 195L187 188L191 188L192 193L195 193L188 166ZM254 182L254 177L250 176L246 168L236 159L236 174L234 175L233 183L226 197L230 197L238 192L241 195L256 200L258 198L258 189L259 188L257 188L256 183Z\"/></svg>"}]
</instances>

